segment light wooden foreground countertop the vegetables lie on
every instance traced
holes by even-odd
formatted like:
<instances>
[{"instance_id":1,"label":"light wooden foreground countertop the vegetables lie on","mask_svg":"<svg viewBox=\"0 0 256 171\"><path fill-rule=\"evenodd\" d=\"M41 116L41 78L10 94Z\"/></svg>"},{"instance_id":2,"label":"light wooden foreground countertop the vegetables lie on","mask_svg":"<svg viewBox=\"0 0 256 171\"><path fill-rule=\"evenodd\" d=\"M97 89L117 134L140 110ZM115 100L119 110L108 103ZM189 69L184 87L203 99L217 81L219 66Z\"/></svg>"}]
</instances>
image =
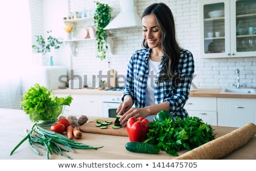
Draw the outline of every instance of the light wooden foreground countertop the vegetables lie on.
<instances>
[{"instance_id":1,"label":"light wooden foreground countertop the vegetables lie on","mask_svg":"<svg viewBox=\"0 0 256 171\"><path fill-rule=\"evenodd\" d=\"M24 142L13 155L10 156L11 150L23 139L25 135L24 131L32 127L32 123L24 114L23 110L12 110L12 109L0 109L0 115L2 119L0 120L0 159L43 159L46 160L46 152L39 149L43 153L42 156L36 155L32 152L27 142ZM89 120L95 119L95 116L88 116ZM47 128L47 127L46 127ZM222 136L228 134L235 130L233 127L213 127L217 132L217 136ZM100 159L174 159L173 156L167 155L166 152L160 152L159 154L152 155L146 153L133 153L125 149L125 143L129 141L129 137L125 136L112 136L112 135L102 135L102 134L90 134L82 133L82 139L76 140L81 143L92 145L94 147L103 148L94 149L75 149L75 153L68 152L67 155L71 156L73 159L90 159L90 160L100 160ZM236 151L230 153L223 159L256 159L256 135L252 137L249 142L237 149ZM179 152L181 155L184 151ZM50 159L67 159L64 156L50 155Z\"/></svg>"}]
</instances>

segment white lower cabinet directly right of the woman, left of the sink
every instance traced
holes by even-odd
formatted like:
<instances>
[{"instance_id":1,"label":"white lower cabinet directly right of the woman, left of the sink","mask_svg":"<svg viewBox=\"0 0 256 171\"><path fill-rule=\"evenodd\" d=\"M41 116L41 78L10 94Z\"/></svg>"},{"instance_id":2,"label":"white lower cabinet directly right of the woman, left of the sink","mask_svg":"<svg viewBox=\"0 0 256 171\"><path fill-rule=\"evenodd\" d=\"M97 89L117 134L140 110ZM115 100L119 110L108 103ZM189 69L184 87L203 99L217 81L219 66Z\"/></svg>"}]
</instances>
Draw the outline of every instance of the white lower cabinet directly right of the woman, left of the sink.
<instances>
[{"instance_id":1,"label":"white lower cabinet directly right of the woman, left of the sink","mask_svg":"<svg viewBox=\"0 0 256 171\"><path fill-rule=\"evenodd\" d=\"M212 97L189 97L184 106L189 116L197 116L204 123L217 126L217 99Z\"/></svg>"}]
</instances>

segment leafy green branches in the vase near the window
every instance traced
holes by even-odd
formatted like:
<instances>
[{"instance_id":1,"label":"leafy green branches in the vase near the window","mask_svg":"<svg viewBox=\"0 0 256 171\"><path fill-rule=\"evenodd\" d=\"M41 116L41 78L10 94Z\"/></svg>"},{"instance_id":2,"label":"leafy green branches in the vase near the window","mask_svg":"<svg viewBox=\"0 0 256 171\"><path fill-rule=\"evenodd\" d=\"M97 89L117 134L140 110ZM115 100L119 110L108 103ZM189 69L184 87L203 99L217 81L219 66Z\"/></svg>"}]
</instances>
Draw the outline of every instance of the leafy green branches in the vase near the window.
<instances>
[{"instance_id":1,"label":"leafy green branches in the vase near the window","mask_svg":"<svg viewBox=\"0 0 256 171\"><path fill-rule=\"evenodd\" d=\"M47 31L47 34L50 34L52 31ZM51 52L51 48L59 49L63 41L60 41L56 37L49 35L47 41L42 35L36 35L37 45L33 44L32 48L36 50L37 53L42 53L42 60L45 60L45 55L47 52Z\"/></svg>"}]
</instances>

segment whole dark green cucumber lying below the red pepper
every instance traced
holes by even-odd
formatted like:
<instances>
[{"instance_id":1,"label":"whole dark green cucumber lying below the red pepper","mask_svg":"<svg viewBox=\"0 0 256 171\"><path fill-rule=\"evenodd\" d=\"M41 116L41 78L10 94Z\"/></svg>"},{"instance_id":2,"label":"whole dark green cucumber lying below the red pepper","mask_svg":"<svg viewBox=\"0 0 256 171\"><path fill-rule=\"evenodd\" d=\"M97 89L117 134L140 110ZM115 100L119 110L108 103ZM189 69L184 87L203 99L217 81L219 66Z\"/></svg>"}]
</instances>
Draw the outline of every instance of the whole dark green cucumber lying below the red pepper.
<instances>
[{"instance_id":1,"label":"whole dark green cucumber lying below the red pepper","mask_svg":"<svg viewBox=\"0 0 256 171\"><path fill-rule=\"evenodd\" d=\"M127 142L125 148L127 151L135 153L158 154L160 152L160 148L157 145L143 142Z\"/></svg>"}]
</instances>

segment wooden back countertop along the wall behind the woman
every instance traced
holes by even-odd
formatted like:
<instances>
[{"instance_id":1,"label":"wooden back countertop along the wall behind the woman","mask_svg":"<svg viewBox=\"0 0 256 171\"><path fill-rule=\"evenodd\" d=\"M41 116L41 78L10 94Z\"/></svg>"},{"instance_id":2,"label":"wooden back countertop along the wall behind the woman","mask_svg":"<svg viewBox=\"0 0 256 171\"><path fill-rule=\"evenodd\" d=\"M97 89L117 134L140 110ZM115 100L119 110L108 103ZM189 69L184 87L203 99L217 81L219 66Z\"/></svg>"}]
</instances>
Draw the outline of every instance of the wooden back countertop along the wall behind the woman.
<instances>
[{"instance_id":1,"label":"wooden back countertop along the wall behind the woman","mask_svg":"<svg viewBox=\"0 0 256 171\"><path fill-rule=\"evenodd\" d=\"M189 97L219 97L219 98L256 98L256 94L227 94L221 93L222 89L194 89ZM122 95L122 91L106 91L99 89L58 89L53 93L61 94L94 94L94 95Z\"/></svg>"}]
</instances>

